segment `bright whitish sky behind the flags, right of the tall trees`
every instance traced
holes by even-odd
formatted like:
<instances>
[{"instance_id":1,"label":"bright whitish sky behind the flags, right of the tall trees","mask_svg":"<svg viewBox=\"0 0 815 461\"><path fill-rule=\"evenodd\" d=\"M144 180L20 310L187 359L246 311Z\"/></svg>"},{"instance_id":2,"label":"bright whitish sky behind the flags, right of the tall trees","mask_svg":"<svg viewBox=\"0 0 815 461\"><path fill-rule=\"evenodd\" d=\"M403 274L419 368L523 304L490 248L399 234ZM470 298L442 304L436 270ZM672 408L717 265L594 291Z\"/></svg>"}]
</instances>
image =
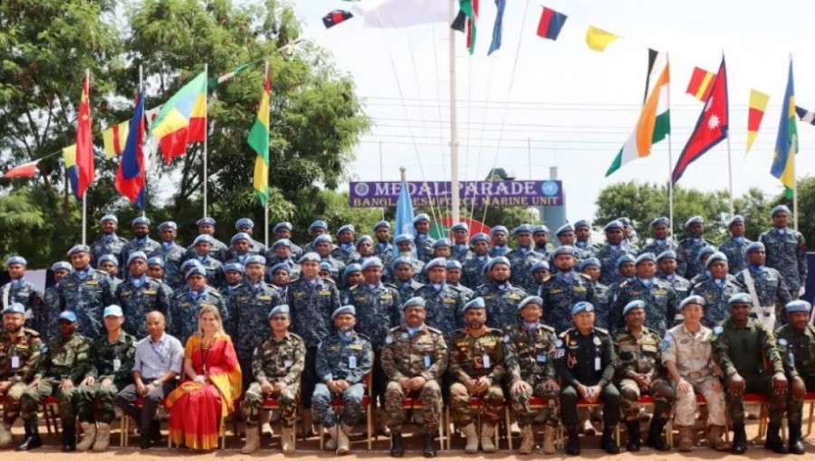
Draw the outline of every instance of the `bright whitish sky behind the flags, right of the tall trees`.
<instances>
[{"instance_id":1,"label":"bright whitish sky behind the flags, right of the tall trees","mask_svg":"<svg viewBox=\"0 0 815 461\"><path fill-rule=\"evenodd\" d=\"M569 15L557 42L535 35L542 5ZM372 118L373 127L356 148L353 174L362 181L379 180L381 146L386 181L398 179L399 166L413 181L449 180L447 25L380 30L365 28L358 17L324 29L323 14L351 7L341 0L294 3L304 36L330 51L338 68L353 77ZM796 101L815 110L809 83L815 80L810 37L815 2L508 0L503 48L487 57L494 14L494 3L482 0L475 56L466 53L462 34L455 39L461 179L481 179L494 166L521 179L543 179L557 165L570 221L593 218L597 194L611 183L666 181L666 141L650 157L604 177L638 118L651 47L670 55L674 161L702 109L685 94L691 72L694 66L716 71L724 51L734 193L753 186L781 192L769 171L791 53ZM606 52L590 51L584 41L590 24L622 38ZM745 158L750 89L769 93L770 106ZM803 176L815 167L810 154L815 127L799 123L799 133L798 174ZM725 189L726 167L722 143L691 165L680 184Z\"/></svg>"}]
</instances>

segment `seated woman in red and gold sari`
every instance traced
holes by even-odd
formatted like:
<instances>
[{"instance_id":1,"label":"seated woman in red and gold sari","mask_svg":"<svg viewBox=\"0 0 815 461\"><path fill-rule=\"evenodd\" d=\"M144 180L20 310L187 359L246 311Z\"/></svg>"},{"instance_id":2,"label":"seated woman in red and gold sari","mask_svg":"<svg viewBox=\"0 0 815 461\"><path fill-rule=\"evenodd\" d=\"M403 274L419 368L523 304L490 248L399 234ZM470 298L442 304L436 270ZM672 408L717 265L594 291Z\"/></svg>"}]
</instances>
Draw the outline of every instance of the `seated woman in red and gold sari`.
<instances>
[{"instance_id":1,"label":"seated woman in red and gold sari","mask_svg":"<svg viewBox=\"0 0 815 461\"><path fill-rule=\"evenodd\" d=\"M241 368L216 306L203 306L198 331L187 340L184 375L167 398L170 440L193 450L218 447L221 419L235 411Z\"/></svg>"}]
</instances>

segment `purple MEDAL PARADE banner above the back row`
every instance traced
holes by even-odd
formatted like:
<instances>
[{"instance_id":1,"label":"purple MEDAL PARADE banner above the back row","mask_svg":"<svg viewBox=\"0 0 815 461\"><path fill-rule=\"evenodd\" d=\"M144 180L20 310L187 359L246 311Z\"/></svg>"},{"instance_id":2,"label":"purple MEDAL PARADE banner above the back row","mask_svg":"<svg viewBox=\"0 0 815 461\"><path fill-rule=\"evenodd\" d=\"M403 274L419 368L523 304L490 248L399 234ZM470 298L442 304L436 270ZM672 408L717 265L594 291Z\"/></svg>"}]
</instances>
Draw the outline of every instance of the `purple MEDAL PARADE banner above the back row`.
<instances>
[{"instance_id":1,"label":"purple MEDAL PARADE banner above the back row","mask_svg":"<svg viewBox=\"0 0 815 461\"><path fill-rule=\"evenodd\" d=\"M352 207L391 207L398 202L402 183L352 182L349 205ZM461 206L562 206L563 187L560 181L462 181L458 184ZM428 205L451 206L449 181L411 181L408 192L414 207Z\"/></svg>"}]
</instances>

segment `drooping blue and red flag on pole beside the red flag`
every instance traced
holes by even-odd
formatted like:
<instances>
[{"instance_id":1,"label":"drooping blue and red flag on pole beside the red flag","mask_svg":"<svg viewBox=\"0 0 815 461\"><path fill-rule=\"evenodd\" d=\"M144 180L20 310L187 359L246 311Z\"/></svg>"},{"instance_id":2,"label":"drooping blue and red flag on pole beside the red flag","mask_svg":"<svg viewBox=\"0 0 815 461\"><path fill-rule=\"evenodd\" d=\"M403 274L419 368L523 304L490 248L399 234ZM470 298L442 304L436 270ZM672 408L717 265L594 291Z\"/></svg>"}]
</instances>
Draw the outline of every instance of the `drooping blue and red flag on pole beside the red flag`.
<instances>
[{"instance_id":1,"label":"drooping blue and red flag on pole beside the red flag","mask_svg":"<svg viewBox=\"0 0 815 461\"><path fill-rule=\"evenodd\" d=\"M136 97L133 118L130 119L128 139L119 159L119 171L113 185L122 195L144 211L144 90Z\"/></svg>"}]
</instances>

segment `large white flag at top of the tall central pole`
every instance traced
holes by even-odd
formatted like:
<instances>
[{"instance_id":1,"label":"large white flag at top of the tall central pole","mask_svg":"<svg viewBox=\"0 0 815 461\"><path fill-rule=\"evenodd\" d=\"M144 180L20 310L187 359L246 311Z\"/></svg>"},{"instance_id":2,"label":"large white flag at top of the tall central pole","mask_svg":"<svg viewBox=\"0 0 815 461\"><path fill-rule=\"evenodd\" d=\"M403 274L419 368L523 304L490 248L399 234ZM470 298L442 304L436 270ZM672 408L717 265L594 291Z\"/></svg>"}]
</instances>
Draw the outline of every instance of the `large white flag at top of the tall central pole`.
<instances>
[{"instance_id":1,"label":"large white flag at top of the tall central pole","mask_svg":"<svg viewBox=\"0 0 815 461\"><path fill-rule=\"evenodd\" d=\"M446 23L450 19L448 2L439 0L369 0L352 9L365 18L365 27L390 29Z\"/></svg>"}]
</instances>

